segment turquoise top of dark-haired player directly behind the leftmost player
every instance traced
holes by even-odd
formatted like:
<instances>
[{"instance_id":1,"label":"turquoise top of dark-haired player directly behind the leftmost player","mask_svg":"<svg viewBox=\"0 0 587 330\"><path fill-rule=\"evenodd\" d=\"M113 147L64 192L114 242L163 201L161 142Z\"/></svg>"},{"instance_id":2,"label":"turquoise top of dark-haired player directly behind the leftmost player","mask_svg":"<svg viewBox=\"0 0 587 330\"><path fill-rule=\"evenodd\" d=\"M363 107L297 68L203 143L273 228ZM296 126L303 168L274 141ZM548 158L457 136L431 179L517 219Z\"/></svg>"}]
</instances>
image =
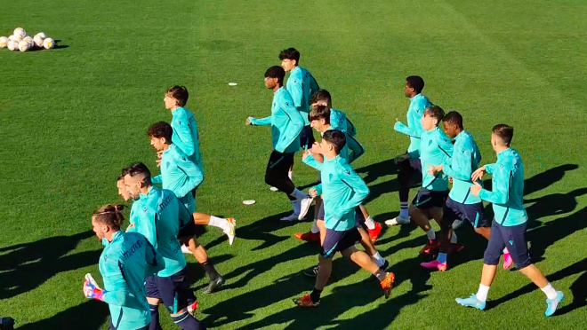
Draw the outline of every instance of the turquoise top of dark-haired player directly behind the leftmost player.
<instances>
[{"instance_id":1,"label":"turquoise top of dark-haired player directly behind the leftmost player","mask_svg":"<svg viewBox=\"0 0 587 330\"><path fill-rule=\"evenodd\" d=\"M183 224L191 221L188 210L171 190L149 188L148 194L139 196L133 202L130 222L134 224L131 232L139 232L155 248L165 261L165 269L157 272L160 277L170 277L186 266L177 240Z\"/></svg>"}]
</instances>

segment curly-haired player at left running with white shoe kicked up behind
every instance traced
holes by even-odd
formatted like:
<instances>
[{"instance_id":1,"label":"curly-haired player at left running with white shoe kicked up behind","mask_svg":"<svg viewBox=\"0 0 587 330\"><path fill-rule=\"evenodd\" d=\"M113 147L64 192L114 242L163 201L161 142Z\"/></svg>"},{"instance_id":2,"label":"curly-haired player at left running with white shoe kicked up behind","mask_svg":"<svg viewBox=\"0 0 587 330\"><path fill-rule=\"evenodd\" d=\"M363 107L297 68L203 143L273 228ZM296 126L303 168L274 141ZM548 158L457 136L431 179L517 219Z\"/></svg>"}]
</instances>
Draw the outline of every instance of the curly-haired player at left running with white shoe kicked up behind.
<instances>
[{"instance_id":1,"label":"curly-haired player at left running with white shoe kicked up behind","mask_svg":"<svg viewBox=\"0 0 587 330\"><path fill-rule=\"evenodd\" d=\"M217 216L210 216L204 213L196 213L196 201L191 193L204 180L204 174L191 161L185 153L182 153L177 145L171 143L173 130L171 125L166 122L157 122L149 127L148 135L151 145L161 152L161 175L152 178L153 184L163 184L164 189L169 189L181 201L188 212L193 215L194 221L189 221L180 228L180 239L183 248L188 249L188 253L194 255L197 262L202 264L205 273L210 279L210 284L206 288L206 293L211 293L216 287L224 283L221 275L216 271L212 261L208 258L205 248L200 245L195 236L197 234L197 224L217 224L225 234L229 236L229 244L232 245L234 240L234 219L223 219ZM199 221L197 221L198 219ZM185 251L183 251L185 253Z\"/></svg>"}]
</instances>

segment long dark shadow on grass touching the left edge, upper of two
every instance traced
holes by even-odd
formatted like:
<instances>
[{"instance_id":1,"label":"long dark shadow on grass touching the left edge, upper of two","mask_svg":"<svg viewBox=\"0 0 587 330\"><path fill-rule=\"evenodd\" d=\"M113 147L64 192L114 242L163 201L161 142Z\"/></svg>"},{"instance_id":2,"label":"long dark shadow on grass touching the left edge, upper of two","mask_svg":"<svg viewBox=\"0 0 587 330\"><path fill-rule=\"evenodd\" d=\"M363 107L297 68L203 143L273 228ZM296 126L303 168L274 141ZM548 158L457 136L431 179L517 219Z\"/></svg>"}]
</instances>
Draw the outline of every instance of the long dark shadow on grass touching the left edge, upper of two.
<instances>
[{"instance_id":1,"label":"long dark shadow on grass touching the left edge, upper of two","mask_svg":"<svg viewBox=\"0 0 587 330\"><path fill-rule=\"evenodd\" d=\"M98 262L101 250L68 255L92 231L54 236L0 249L0 299L11 298L39 287L61 271L73 271Z\"/></svg>"}]
</instances>

